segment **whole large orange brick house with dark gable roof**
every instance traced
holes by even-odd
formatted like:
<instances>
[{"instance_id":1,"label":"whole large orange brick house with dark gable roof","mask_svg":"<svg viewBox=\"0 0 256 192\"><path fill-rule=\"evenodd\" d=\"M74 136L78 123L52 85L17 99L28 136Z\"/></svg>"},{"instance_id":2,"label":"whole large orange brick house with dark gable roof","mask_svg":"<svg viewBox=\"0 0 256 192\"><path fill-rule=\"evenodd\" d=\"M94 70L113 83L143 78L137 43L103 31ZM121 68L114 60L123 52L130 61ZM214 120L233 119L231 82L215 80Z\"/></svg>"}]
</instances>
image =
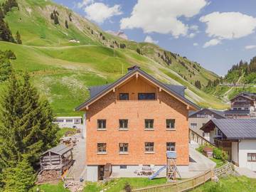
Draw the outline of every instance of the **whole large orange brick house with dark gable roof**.
<instances>
[{"instance_id":1,"label":"whole large orange brick house with dark gable roof","mask_svg":"<svg viewBox=\"0 0 256 192\"><path fill-rule=\"evenodd\" d=\"M178 169L188 170L188 110L199 108L184 90L137 66L110 85L91 87L90 99L76 108L86 112L87 181L102 180L110 167L122 177L142 165L166 165L166 151L176 151Z\"/></svg>"}]
</instances>

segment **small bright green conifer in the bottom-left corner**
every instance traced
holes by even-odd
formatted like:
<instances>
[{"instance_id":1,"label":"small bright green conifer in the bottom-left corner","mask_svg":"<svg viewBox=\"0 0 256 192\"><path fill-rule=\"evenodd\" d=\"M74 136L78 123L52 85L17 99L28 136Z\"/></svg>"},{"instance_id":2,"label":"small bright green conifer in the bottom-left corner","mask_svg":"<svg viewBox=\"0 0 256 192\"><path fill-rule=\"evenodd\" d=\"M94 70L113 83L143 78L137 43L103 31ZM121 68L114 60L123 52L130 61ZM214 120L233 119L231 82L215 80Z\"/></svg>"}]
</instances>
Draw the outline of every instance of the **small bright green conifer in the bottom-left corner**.
<instances>
[{"instance_id":1,"label":"small bright green conifer in the bottom-left corner","mask_svg":"<svg viewBox=\"0 0 256 192\"><path fill-rule=\"evenodd\" d=\"M4 192L29 191L36 181L33 168L26 158L18 162L17 166L5 169L2 176Z\"/></svg>"}]
</instances>

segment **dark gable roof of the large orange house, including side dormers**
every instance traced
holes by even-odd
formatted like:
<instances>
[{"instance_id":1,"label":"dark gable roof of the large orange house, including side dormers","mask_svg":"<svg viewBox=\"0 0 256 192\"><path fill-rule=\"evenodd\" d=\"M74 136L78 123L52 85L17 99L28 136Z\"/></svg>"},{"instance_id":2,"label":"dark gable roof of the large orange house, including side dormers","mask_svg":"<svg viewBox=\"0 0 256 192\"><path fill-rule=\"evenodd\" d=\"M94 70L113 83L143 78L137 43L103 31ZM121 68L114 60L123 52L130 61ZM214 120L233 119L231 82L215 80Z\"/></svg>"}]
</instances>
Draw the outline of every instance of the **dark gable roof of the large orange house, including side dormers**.
<instances>
[{"instance_id":1,"label":"dark gable roof of the large orange house, including side dormers","mask_svg":"<svg viewBox=\"0 0 256 192\"><path fill-rule=\"evenodd\" d=\"M99 99L102 95L105 95L107 92L110 92L110 90L112 90L114 87L117 87L118 85L120 85L122 82L124 82L124 80L127 80L128 78L131 78L136 74L142 75L144 78L150 80L155 85L161 87L163 90L168 92L170 95L173 95L174 97L176 97L176 99L180 100L186 105L191 106L193 109L196 109L196 110L200 109L198 105L194 104L190 100L186 99L186 97L184 97L183 92L185 90L185 87L181 88L181 86L178 86L178 85L164 84L159 80L156 80L151 75L149 75L148 73L144 72L143 70L141 70L139 67L136 66L132 70L129 70L129 72L126 75L124 75L122 78L119 78L117 81L113 82L112 84L103 85L100 87L99 86L91 87L90 99L82 103L78 107L76 107L75 110L76 111L82 110L84 107L92 104L92 102L95 102L95 100Z\"/></svg>"}]
</instances>

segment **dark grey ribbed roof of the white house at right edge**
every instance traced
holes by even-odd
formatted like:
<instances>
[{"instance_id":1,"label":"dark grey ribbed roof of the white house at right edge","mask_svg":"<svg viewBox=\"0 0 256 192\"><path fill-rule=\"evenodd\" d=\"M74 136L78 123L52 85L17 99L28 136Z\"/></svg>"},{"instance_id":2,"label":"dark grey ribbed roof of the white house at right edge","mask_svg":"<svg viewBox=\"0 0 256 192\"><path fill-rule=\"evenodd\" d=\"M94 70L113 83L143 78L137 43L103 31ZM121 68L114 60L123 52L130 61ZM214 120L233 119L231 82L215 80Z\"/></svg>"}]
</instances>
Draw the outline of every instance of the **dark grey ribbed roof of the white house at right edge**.
<instances>
[{"instance_id":1,"label":"dark grey ribbed roof of the white house at right edge","mask_svg":"<svg viewBox=\"0 0 256 192\"><path fill-rule=\"evenodd\" d=\"M227 139L256 139L256 119L211 119L201 129L210 124L220 129Z\"/></svg>"}]
</instances>

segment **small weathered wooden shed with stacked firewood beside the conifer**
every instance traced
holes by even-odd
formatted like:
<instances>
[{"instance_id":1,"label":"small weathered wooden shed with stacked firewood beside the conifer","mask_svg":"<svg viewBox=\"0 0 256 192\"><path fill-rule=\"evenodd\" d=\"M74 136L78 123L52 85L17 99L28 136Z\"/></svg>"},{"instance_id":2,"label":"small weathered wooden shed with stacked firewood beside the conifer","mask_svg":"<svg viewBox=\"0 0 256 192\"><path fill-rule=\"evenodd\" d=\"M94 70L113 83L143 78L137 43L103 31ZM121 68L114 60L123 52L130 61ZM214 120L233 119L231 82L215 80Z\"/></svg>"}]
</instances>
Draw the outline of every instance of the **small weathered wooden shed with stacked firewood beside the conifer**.
<instances>
[{"instance_id":1,"label":"small weathered wooden shed with stacked firewood beside the conifer","mask_svg":"<svg viewBox=\"0 0 256 192\"><path fill-rule=\"evenodd\" d=\"M53 181L60 178L73 164L73 147L60 144L48 149L40 156L41 171L38 182Z\"/></svg>"}]
</instances>

